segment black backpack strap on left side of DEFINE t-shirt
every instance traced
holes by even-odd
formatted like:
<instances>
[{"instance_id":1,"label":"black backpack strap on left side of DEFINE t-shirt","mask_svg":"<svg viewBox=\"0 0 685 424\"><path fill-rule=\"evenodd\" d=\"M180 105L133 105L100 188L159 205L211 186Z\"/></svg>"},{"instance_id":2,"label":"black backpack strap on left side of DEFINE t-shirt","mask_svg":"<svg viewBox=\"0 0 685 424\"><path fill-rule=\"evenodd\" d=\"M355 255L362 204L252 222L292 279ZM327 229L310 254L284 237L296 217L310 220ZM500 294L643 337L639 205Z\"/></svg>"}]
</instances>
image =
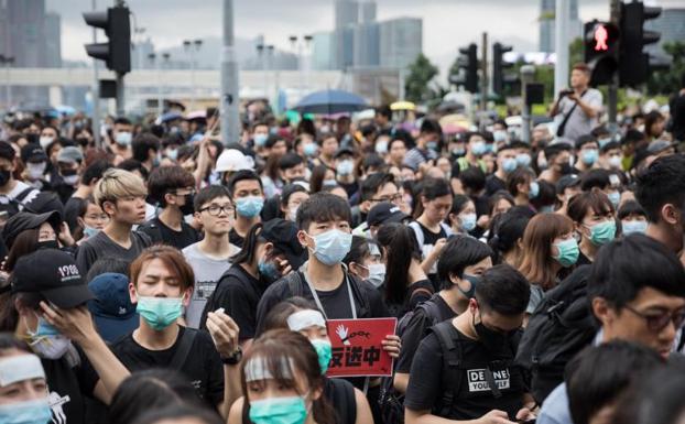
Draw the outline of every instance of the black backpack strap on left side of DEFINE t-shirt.
<instances>
[{"instance_id":1,"label":"black backpack strap on left side of DEFINE t-shirt","mask_svg":"<svg viewBox=\"0 0 685 424\"><path fill-rule=\"evenodd\" d=\"M459 376L459 363L461 362L461 345L453 338L450 333L452 322L446 320L434 325L431 329L437 336L443 352L443 392L441 401L441 415L449 416L449 410L458 399L461 378Z\"/></svg>"}]
</instances>

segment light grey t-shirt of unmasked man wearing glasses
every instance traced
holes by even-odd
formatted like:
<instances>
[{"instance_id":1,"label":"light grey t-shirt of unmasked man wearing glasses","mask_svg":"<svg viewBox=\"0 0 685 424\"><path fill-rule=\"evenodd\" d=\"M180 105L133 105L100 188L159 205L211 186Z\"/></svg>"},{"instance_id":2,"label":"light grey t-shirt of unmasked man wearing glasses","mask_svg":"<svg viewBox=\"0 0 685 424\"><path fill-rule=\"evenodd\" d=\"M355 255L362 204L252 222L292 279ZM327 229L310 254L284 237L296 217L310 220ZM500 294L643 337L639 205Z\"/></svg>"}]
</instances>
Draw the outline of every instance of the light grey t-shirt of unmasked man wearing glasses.
<instances>
[{"instance_id":1,"label":"light grey t-shirt of unmasked man wearing glasses","mask_svg":"<svg viewBox=\"0 0 685 424\"><path fill-rule=\"evenodd\" d=\"M193 272L195 273L195 289L193 290L191 303L185 311L185 319L191 328L199 327L199 318L207 304L207 298L214 293L221 275L230 268L228 259L209 258L198 249L198 244L199 242L193 243L183 249L183 256L193 267ZM231 244L230 256L239 251L239 247Z\"/></svg>"}]
</instances>

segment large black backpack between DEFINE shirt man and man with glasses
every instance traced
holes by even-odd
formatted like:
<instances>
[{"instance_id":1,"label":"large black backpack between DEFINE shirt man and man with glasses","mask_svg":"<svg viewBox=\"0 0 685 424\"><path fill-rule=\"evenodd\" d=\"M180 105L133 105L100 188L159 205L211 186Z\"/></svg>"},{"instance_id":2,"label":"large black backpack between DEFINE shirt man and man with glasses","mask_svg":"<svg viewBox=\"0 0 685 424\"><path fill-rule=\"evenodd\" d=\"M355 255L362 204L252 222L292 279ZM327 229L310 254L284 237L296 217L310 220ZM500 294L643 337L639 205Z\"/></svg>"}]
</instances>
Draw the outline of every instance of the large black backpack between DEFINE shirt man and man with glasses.
<instances>
[{"instance_id":1,"label":"large black backpack between DEFINE shirt man and man with glasses","mask_svg":"<svg viewBox=\"0 0 685 424\"><path fill-rule=\"evenodd\" d=\"M545 293L523 333L517 362L531 373L537 404L564 381L566 363L597 334L587 298L589 270L590 265L578 268Z\"/></svg>"}]
</instances>

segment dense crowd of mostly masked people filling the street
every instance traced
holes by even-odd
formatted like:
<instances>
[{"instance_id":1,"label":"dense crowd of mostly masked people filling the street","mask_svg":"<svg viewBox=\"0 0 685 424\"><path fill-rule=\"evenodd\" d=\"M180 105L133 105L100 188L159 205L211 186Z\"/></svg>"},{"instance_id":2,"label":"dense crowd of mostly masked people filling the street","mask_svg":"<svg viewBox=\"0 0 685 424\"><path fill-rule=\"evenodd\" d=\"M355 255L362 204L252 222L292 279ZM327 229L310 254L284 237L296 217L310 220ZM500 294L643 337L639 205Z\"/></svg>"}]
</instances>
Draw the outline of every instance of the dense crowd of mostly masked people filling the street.
<instances>
[{"instance_id":1,"label":"dense crowd of mostly masked people filling the street","mask_svg":"<svg viewBox=\"0 0 685 424\"><path fill-rule=\"evenodd\" d=\"M685 78L604 122L589 70L498 120L14 116L0 141L0 423L676 424ZM329 319L396 318L331 378Z\"/></svg>"}]
</instances>

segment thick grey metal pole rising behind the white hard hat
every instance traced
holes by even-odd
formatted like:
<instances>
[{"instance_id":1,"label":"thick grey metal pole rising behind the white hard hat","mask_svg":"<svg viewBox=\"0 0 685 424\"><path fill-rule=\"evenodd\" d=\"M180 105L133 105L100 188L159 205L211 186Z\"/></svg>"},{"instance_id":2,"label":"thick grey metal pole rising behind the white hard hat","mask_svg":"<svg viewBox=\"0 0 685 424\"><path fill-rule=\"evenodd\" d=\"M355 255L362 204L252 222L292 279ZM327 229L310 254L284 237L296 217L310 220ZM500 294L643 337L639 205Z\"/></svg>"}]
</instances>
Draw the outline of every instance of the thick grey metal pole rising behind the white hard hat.
<instances>
[{"instance_id":1,"label":"thick grey metal pole rising behind the white hard hat","mask_svg":"<svg viewBox=\"0 0 685 424\"><path fill-rule=\"evenodd\" d=\"M233 36L233 0L224 0L224 51L221 52L221 142L240 140L240 96L238 91L238 62Z\"/></svg>"}]
</instances>

